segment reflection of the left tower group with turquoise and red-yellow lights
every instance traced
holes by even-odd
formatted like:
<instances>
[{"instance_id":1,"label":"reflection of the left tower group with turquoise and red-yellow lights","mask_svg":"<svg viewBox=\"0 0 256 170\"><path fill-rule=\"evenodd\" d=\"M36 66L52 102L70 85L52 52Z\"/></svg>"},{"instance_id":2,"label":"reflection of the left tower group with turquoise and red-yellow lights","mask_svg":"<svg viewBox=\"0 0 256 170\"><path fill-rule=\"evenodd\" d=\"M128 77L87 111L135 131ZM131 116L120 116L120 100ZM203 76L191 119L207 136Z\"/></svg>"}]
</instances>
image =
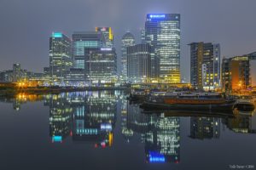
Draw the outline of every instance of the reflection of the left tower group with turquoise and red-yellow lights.
<instances>
[{"instance_id":1,"label":"reflection of the left tower group with turquoise and red-yellow lights","mask_svg":"<svg viewBox=\"0 0 256 170\"><path fill-rule=\"evenodd\" d=\"M62 142L68 135L74 142L95 147L113 144L117 95L114 92L73 92L45 96L49 105L49 135L53 142Z\"/></svg>"}]
</instances>

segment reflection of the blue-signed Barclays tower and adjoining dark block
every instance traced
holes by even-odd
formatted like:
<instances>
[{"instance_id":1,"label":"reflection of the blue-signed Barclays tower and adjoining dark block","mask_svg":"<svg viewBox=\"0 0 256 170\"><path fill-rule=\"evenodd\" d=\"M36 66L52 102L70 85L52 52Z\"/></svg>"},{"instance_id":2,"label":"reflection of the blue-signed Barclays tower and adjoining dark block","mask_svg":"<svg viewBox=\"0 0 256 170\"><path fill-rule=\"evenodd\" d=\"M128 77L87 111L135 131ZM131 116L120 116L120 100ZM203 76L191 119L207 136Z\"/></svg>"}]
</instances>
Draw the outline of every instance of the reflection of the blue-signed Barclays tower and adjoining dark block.
<instances>
[{"instance_id":1,"label":"reflection of the blue-signed Barclays tower and adjoining dark block","mask_svg":"<svg viewBox=\"0 0 256 170\"><path fill-rule=\"evenodd\" d=\"M180 118L143 114L139 105L128 105L127 129L140 133L147 162L180 161Z\"/></svg>"}]
</instances>

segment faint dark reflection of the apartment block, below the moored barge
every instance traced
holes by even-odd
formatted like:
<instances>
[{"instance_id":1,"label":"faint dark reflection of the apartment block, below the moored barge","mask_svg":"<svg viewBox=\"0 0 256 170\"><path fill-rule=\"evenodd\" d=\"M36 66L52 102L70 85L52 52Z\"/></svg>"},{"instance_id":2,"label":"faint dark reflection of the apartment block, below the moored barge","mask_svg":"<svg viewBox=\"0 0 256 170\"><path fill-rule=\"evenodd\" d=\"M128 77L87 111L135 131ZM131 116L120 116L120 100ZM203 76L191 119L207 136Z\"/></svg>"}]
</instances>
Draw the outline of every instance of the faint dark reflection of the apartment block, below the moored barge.
<instances>
[{"instance_id":1,"label":"faint dark reflection of the apartment block, below the moored barge","mask_svg":"<svg viewBox=\"0 0 256 170\"><path fill-rule=\"evenodd\" d=\"M220 135L220 118L190 117L190 138L218 139Z\"/></svg>"}]
</instances>

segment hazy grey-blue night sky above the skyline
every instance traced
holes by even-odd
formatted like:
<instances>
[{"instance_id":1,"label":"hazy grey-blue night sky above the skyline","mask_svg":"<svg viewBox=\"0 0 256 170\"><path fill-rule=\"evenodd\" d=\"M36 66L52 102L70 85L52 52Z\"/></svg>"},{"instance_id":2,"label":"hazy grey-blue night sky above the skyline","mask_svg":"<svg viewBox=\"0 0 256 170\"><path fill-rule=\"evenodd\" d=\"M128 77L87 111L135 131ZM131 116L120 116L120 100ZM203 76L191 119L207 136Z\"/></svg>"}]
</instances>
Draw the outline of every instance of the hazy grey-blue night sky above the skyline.
<instances>
[{"instance_id":1,"label":"hazy grey-blue night sky above the skyline","mask_svg":"<svg viewBox=\"0 0 256 170\"><path fill-rule=\"evenodd\" d=\"M148 13L181 14L181 70L189 78L189 42L219 42L222 56L256 51L255 0L1 0L0 71L20 63L42 72L49 36L111 26L115 47L129 30L139 42ZM120 56L120 55L119 55Z\"/></svg>"}]
</instances>

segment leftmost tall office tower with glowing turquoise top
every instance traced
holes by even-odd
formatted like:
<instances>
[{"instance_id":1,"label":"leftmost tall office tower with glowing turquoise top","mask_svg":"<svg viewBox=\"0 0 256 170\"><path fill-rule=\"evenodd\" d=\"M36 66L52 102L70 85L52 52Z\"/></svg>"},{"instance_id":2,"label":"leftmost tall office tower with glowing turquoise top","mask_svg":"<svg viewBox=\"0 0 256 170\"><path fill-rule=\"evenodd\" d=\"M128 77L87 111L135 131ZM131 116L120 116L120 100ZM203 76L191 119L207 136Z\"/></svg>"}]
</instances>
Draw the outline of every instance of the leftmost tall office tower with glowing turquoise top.
<instances>
[{"instance_id":1,"label":"leftmost tall office tower with glowing turquoise top","mask_svg":"<svg viewBox=\"0 0 256 170\"><path fill-rule=\"evenodd\" d=\"M61 32L49 38L49 75L52 82L63 82L66 71L72 68L72 41Z\"/></svg>"}]
</instances>

